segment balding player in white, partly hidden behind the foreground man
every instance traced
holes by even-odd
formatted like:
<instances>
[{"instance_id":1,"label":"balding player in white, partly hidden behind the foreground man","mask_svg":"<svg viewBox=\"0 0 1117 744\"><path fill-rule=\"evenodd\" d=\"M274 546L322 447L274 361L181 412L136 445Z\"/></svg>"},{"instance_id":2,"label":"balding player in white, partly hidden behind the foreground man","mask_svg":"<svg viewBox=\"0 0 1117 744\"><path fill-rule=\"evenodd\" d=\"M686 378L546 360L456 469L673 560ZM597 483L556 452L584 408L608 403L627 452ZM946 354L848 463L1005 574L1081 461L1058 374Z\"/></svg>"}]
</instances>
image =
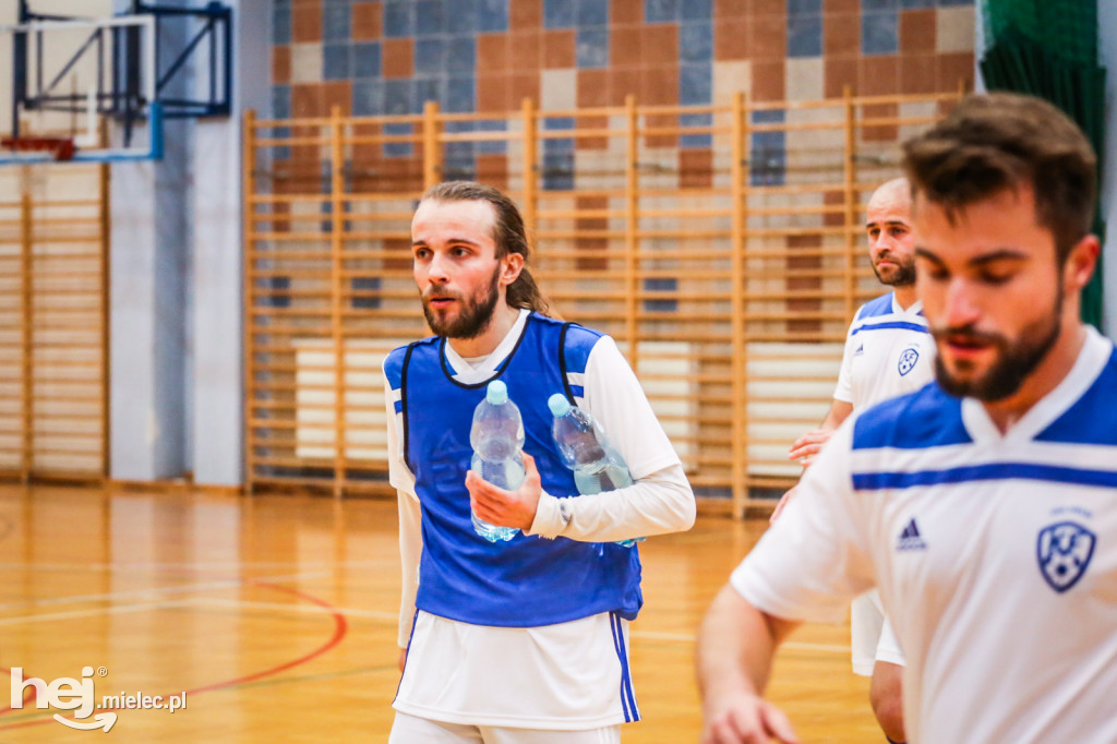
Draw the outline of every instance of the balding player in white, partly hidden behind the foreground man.
<instances>
[{"instance_id":1,"label":"balding player in white, partly hidden behind the foreground man","mask_svg":"<svg viewBox=\"0 0 1117 744\"><path fill-rule=\"evenodd\" d=\"M804 466L855 410L918 390L934 378L935 345L915 292L915 232L907 179L894 179L873 191L865 227L872 270L892 292L866 303L853 316L830 412L787 455ZM787 496L781 499L773 521L786 500ZM869 699L877 722L889 742L903 742L904 652L876 591L853 600L850 640L853 673L872 678Z\"/></svg>"}]
</instances>

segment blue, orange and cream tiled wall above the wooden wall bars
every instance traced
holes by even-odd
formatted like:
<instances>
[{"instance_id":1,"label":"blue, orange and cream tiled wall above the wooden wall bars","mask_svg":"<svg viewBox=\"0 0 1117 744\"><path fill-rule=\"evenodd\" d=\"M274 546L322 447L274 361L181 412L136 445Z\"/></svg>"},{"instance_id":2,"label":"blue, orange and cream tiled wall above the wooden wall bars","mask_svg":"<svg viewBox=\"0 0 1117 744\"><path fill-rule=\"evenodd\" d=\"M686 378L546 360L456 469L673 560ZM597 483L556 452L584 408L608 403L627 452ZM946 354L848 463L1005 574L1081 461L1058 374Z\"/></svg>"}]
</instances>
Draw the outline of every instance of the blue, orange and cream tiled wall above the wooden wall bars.
<instances>
[{"instance_id":1,"label":"blue, orange and cream tiled wall above the wooden wall bars","mask_svg":"<svg viewBox=\"0 0 1117 744\"><path fill-rule=\"evenodd\" d=\"M273 114L954 90L972 0L274 0ZM700 142L689 144L700 145ZM687 142L681 145L686 147Z\"/></svg>"}]
</instances>

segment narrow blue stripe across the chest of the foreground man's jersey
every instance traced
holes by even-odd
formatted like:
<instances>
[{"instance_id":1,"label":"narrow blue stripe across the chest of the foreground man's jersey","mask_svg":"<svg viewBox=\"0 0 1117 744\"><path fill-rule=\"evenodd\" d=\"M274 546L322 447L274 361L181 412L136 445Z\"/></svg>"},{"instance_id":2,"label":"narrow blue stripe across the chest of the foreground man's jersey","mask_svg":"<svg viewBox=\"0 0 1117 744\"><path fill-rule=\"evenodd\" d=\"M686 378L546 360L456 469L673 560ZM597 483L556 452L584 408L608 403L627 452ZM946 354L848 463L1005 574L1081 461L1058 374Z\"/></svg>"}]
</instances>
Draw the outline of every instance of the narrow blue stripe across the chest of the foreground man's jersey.
<instances>
[{"instance_id":1,"label":"narrow blue stripe across the chest of the foreground man's jersey","mask_svg":"<svg viewBox=\"0 0 1117 744\"><path fill-rule=\"evenodd\" d=\"M855 473L853 489L914 488L975 480L1042 480L1075 486L1117 488L1117 471L1038 465L1035 462L986 462L916 473Z\"/></svg>"}]
</instances>

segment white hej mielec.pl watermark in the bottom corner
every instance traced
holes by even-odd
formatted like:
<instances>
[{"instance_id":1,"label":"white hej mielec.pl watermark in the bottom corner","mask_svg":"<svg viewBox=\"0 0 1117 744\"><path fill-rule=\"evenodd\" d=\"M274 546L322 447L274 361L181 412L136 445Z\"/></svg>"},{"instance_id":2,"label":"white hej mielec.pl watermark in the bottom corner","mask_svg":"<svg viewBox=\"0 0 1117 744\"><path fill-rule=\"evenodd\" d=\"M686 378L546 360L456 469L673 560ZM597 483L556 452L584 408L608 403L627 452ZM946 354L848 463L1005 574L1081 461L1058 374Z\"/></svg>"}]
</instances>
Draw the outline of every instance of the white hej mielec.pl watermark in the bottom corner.
<instances>
[{"instance_id":1,"label":"white hej mielec.pl watermark in the bottom corner","mask_svg":"<svg viewBox=\"0 0 1117 744\"><path fill-rule=\"evenodd\" d=\"M82 668L82 678L59 677L47 683L38 677L23 679L23 668L12 667L11 669L11 707L19 710L23 707L23 695L27 688L35 690L35 707L39 709L55 708L58 710L73 710L74 721L55 714L55 721L65 724L70 728L82 731L93 731L103 728L106 733L116 723L116 714L112 710L184 710L187 707L187 693L179 695L143 695L136 693L128 695L105 695L97 703L94 691L93 676L104 677L108 674L105 667L99 667L96 673L93 667ZM93 716L92 721L86 721L94 710L105 710Z\"/></svg>"}]
</instances>

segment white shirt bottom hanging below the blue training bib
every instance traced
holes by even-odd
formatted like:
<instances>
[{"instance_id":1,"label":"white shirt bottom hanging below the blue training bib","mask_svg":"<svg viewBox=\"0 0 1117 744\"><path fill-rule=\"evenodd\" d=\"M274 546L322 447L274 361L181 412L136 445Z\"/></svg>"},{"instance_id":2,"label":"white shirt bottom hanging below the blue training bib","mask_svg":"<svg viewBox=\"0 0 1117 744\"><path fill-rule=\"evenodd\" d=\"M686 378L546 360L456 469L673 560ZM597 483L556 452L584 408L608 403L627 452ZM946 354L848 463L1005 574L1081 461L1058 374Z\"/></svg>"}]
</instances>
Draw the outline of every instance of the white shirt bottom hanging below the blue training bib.
<instances>
[{"instance_id":1,"label":"white shirt bottom hanging below the blue training bib","mask_svg":"<svg viewBox=\"0 0 1117 744\"><path fill-rule=\"evenodd\" d=\"M603 612L494 628L420 611L392 707L472 727L591 731L639 721L628 624Z\"/></svg>"}]
</instances>

